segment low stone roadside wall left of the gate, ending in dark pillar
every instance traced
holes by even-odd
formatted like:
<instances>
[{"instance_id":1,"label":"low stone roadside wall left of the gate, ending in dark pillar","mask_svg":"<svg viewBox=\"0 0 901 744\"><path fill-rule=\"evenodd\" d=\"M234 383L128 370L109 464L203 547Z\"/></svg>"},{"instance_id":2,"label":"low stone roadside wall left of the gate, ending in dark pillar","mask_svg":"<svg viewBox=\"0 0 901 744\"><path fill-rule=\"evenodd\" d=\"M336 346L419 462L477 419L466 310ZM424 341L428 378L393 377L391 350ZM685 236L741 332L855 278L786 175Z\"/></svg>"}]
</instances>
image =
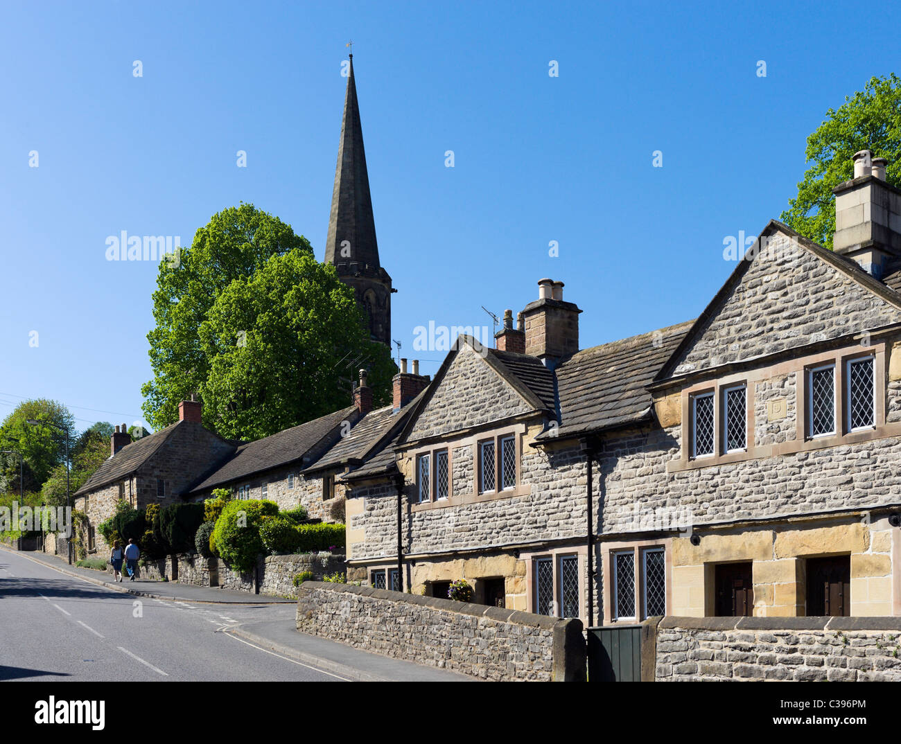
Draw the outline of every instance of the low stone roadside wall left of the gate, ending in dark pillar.
<instances>
[{"instance_id":1,"label":"low stone roadside wall left of the gate, ending in dark pillar","mask_svg":"<svg viewBox=\"0 0 901 744\"><path fill-rule=\"evenodd\" d=\"M578 620L365 586L306 582L297 630L487 680L582 681Z\"/></svg>"}]
</instances>

